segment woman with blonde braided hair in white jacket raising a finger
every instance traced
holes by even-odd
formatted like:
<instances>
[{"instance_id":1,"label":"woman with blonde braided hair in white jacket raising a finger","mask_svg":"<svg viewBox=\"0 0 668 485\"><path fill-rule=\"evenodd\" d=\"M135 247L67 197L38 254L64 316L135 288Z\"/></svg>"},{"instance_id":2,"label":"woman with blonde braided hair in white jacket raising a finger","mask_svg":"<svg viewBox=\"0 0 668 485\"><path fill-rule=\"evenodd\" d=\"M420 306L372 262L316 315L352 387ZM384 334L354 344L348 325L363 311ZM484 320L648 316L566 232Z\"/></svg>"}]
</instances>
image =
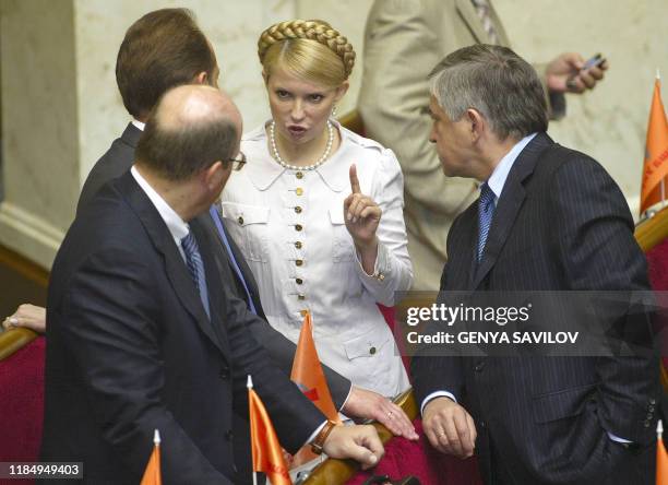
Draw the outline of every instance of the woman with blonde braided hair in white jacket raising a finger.
<instances>
[{"instance_id":1,"label":"woman with blonde braided hair in white jacket raising a finger","mask_svg":"<svg viewBox=\"0 0 668 485\"><path fill-rule=\"evenodd\" d=\"M248 164L223 193L226 226L270 323L297 342L309 311L321 360L379 405L409 386L377 305L413 281L398 162L332 118L355 64L346 37L294 20L258 47L272 119L241 141Z\"/></svg>"}]
</instances>

